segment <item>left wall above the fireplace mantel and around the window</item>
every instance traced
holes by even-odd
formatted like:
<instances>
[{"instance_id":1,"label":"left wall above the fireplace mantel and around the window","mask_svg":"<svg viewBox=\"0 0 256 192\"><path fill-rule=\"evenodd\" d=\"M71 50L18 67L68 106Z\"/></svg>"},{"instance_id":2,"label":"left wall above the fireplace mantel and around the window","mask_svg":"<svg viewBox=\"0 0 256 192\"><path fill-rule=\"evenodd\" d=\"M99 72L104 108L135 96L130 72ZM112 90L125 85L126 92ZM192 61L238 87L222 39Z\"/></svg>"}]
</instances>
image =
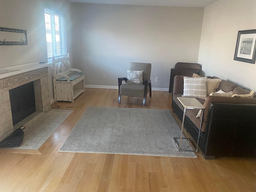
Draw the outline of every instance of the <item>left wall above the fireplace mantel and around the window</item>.
<instances>
[{"instance_id":1,"label":"left wall above the fireplace mantel and around the window","mask_svg":"<svg viewBox=\"0 0 256 192\"><path fill-rule=\"evenodd\" d=\"M44 7L66 16L67 46L71 52L70 3L66 0L0 0L0 26L27 31L28 45L0 46L0 68L47 60ZM71 54L72 55L72 54ZM50 98L53 96L52 68L49 67Z\"/></svg>"}]
</instances>

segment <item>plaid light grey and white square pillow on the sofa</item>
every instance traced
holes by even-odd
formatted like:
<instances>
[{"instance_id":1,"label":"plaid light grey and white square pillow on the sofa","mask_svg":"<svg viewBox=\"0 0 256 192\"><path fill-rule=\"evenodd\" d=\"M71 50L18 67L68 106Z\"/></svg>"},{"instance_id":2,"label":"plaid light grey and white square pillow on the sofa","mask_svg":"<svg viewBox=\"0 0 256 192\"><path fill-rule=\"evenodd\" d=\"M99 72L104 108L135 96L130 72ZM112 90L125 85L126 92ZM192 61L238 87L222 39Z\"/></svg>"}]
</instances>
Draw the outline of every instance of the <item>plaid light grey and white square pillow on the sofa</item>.
<instances>
[{"instance_id":1,"label":"plaid light grey and white square pillow on the sofa","mask_svg":"<svg viewBox=\"0 0 256 192\"><path fill-rule=\"evenodd\" d=\"M207 77L192 78L183 77L184 79L184 97L194 97L206 99L206 79Z\"/></svg>"}]
</instances>

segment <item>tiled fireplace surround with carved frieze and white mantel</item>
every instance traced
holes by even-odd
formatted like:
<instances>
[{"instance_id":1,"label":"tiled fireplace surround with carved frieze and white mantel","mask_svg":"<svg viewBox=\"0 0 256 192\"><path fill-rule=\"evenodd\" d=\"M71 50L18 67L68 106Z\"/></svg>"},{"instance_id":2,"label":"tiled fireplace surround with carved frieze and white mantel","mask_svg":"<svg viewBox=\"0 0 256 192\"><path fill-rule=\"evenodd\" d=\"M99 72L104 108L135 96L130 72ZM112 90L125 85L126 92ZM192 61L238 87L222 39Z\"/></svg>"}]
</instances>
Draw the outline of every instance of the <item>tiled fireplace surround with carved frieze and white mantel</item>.
<instances>
[{"instance_id":1,"label":"tiled fireplace surround with carved frieze and white mantel","mask_svg":"<svg viewBox=\"0 0 256 192\"><path fill-rule=\"evenodd\" d=\"M34 82L36 110L50 110L48 86L48 66L33 62L0 68L0 141L12 134L12 112L9 90L29 82Z\"/></svg>"}]
</instances>

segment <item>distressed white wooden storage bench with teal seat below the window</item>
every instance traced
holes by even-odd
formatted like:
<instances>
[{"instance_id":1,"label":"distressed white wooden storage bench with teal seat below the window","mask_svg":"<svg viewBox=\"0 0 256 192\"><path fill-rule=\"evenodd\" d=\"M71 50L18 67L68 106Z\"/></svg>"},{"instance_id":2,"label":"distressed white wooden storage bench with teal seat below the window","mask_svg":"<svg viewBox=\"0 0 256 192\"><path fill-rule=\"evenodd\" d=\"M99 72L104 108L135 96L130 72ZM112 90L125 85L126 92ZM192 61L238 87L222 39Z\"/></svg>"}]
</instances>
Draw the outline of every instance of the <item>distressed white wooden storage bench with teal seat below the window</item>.
<instances>
[{"instance_id":1,"label":"distressed white wooden storage bench with teal seat below the window","mask_svg":"<svg viewBox=\"0 0 256 192\"><path fill-rule=\"evenodd\" d=\"M58 59L53 56L52 71L55 102L74 102L84 92L84 74L79 69L70 68L69 54Z\"/></svg>"}]
</instances>

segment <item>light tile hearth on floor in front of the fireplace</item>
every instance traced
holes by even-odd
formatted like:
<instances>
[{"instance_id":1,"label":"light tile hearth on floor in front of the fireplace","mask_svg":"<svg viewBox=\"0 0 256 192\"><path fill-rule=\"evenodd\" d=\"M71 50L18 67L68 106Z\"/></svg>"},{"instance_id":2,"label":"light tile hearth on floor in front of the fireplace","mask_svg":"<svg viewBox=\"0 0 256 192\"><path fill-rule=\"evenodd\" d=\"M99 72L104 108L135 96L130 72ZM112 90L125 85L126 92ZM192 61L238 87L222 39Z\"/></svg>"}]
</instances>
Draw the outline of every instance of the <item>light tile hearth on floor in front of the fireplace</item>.
<instances>
[{"instance_id":1,"label":"light tile hearth on floor in front of the fireplace","mask_svg":"<svg viewBox=\"0 0 256 192\"><path fill-rule=\"evenodd\" d=\"M22 125L26 127L24 129L24 140L20 147L10 149L39 149L72 112L73 110L66 109L34 112L14 126L14 130Z\"/></svg>"}]
</instances>

